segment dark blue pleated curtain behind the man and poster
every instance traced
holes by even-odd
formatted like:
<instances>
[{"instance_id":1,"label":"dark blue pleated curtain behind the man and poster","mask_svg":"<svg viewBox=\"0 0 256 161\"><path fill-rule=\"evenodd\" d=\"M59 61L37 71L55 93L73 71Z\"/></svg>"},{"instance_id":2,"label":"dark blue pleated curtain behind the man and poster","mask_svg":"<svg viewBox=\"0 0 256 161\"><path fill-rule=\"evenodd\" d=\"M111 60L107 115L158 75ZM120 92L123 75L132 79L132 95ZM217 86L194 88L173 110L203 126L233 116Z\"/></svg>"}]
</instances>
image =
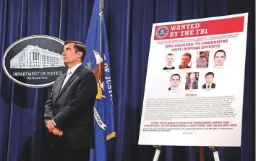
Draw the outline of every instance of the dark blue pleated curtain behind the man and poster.
<instances>
[{"instance_id":1,"label":"dark blue pleated curtain behind the man and poster","mask_svg":"<svg viewBox=\"0 0 256 161\"><path fill-rule=\"evenodd\" d=\"M108 159L153 160L152 146L137 145L151 27L155 22L249 12L242 147L219 147L221 160L255 160L255 0L105 0L111 56L116 138ZM0 51L28 35L85 42L94 0L0 0ZM0 71L0 161L40 161L43 110L49 88L25 88ZM157 76L158 73L155 73ZM234 75L234 78L236 76ZM213 154L205 149L205 160ZM196 161L195 147L163 147L159 160Z\"/></svg>"}]
</instances>

